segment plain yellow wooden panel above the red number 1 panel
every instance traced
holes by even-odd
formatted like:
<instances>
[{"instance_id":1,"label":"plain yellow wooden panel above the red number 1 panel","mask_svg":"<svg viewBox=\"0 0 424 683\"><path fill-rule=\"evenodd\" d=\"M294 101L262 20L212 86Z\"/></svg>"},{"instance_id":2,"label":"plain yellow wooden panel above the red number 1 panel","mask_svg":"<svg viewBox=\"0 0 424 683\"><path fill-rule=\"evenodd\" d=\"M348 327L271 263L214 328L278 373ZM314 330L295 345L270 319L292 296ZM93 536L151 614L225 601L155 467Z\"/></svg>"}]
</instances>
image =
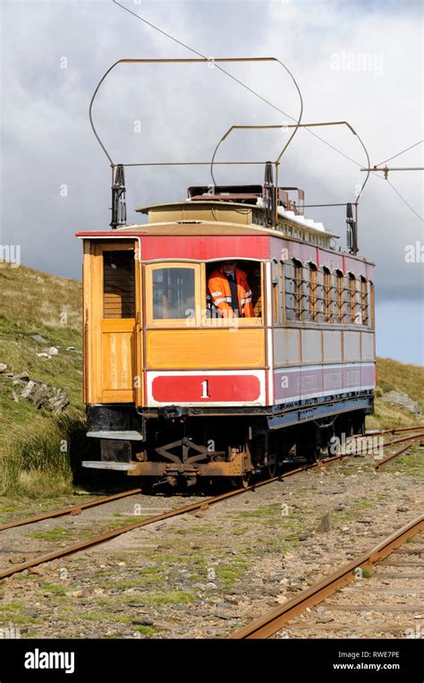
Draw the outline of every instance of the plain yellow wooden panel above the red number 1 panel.
<instances>
[{"instance_id":1,"label":"plain yellow wooden panel above the red number 1 panel","mask_svg":"<svg viewBox=\"0 0 424 683\"><path fill-rule=\"evenodd\" d=\"M157 329L146 343L150 370L265 365L263 329Z\"/></svg>"}]
</instances>

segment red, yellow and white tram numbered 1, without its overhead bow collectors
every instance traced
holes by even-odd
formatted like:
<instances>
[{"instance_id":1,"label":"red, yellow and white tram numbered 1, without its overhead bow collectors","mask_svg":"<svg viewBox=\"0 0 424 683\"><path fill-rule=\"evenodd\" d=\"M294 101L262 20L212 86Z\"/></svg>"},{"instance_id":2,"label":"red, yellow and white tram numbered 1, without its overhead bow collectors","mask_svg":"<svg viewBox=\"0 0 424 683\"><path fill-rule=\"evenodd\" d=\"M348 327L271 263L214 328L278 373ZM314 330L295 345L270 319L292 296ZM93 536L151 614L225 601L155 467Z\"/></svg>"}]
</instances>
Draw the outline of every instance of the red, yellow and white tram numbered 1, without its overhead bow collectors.
<instances>
[{"instance_id":1,"label":"red, yellow and white tram numbered 1, without its overhead bow collectors","mask_svg":"<svg viewBox=\"0 0 424 683\"><path fill-rule=\"evenodd\" d=\"M87 467L191 484L246 480L296 445L309 459L360 431L375 387L373 264L278 188L190 188L148 223L84 232L84 399L100 460ZM302 193L298 192L299 197ZM237 260L254 318L223 319L208 275Z\"/></svg>"}]
</instances>

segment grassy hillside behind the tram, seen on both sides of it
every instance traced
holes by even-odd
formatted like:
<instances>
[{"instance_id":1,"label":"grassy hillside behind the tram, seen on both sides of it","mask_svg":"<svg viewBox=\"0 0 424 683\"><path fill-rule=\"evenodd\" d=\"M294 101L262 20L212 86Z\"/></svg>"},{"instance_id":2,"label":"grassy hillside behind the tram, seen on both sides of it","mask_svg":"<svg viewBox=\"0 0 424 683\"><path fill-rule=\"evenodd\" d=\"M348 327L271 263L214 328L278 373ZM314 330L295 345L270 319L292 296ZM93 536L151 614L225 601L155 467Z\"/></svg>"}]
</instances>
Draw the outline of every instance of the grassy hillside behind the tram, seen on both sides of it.
<instances>
[{"instance_id":1,"label":"grassy hillside behind the tram, seen on both sides of it","mask_svg":"<svg viewBox=\"0 0 424 683\"><path fill-rule=\"evenodd\" d=\"M38 334L46 343L34 340ZM46 346L59 354L39 357ZM75 350L67 351L68 346ZM57 417L13 399L13 380L0 373L0 495L70 491L70 457L84 446L81 402L81 283L0 263L0 363L17 374L63 388L71 403ZM407 393L424 410L424 368L389 359L377 362L376 414L369 428L406 426L417 417L380 400L391 389ZM424 423L421 418L420 422ZM63 448L66 441L67 450Z\"/></svg>"}]
</instances>

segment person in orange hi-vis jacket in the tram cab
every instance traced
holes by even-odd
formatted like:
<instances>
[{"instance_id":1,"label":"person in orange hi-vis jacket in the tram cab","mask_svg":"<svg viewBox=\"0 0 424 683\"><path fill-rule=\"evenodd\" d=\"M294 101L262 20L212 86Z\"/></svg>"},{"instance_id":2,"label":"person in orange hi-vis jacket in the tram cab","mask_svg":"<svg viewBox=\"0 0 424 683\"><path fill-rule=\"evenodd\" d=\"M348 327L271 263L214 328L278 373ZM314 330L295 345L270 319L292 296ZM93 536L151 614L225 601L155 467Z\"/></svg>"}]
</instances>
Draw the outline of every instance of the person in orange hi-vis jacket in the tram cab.
<instances>
[{"instance_id":1,"label":"person in orange hi-vis jacket in the tram cab","mask_svg":"<svg viewBox=\"0 0 424 683\"><path fill-rule=\"evenodd\" d=\"M208 295L212 312L223 318L254 318L251 289L246 273L237 261L225 260L208 277Z\"/></svg>"}]
</instances>

